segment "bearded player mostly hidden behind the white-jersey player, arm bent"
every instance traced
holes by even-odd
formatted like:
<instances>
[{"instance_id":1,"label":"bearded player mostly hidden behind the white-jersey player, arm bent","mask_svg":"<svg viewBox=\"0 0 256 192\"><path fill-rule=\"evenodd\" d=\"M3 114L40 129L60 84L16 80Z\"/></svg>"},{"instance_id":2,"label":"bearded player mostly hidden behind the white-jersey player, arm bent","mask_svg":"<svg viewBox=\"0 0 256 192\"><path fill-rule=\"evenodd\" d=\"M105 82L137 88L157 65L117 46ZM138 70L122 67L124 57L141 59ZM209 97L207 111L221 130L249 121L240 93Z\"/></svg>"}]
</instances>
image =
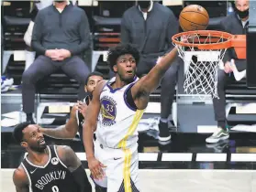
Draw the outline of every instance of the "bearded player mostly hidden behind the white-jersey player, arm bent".
<instances>
[{"instance_id":1,"label":"bearded player mostly hidden behind the white-jersey player, arm bent","mask_svg":"<svg viewBox=\"0 0 256 192\"><path fill-rule=\"evenodd\" d=\"M83 121L86 115L87 105L92 100L92 92L95 90L96 85L101 80L103 80L102 73L90 73L84 86L84 91L87 93L87 96L83 99L83 101L78 101L72 107L69 121L66 124L54 129L39 128L40 132L58 139L72 139L75 137L76 133L79 132L80 138L83 142Z\"/></svg>"}]
</instances>

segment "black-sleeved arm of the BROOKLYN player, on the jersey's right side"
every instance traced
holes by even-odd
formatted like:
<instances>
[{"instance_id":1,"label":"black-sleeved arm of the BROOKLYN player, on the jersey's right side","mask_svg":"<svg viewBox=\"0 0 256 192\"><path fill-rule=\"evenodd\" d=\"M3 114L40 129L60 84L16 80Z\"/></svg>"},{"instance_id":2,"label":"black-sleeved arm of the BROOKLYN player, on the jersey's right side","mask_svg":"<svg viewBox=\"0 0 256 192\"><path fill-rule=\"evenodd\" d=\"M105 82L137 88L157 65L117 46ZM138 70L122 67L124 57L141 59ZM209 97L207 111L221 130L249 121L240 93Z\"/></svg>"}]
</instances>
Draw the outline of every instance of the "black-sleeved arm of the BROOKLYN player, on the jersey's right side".
<instances>
[{"instance_id":1,"label":"black-sleeved arm of the BROOKLYN player, on the jersey's right side","mask_svg":"<svg viewBox=\"0 0 256 192\"><path fill-rule=\"evenodd\" d=\"M72 173L75 183L79 186L79 192L92 192L92 186L86 176L83 165L72 148L70 146L57 146L57 153L63 164Z\"/></svg>"}]
</instances>

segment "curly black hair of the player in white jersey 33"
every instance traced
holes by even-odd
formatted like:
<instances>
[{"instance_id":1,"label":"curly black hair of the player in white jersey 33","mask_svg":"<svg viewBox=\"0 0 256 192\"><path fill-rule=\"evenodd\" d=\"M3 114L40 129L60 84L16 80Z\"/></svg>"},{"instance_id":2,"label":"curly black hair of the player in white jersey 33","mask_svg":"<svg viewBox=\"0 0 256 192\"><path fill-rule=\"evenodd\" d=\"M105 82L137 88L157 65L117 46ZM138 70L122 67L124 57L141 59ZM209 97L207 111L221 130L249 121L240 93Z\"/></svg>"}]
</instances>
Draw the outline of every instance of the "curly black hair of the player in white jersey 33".
<instances>
[{"instance_id":1,"label":"curly black hair of the player in white jersey 33","mask_svg":"<svg viewBox=\"0 0 256 192\"><path fill-rule=\"evenodd\" d=\"M110 69L113 70L114 65L117 65L117 58L122 55L130 54L136 60L136 63L139 63L139 49L132 44L118 44L115 48L110 48L108 51L107 62L110 66Z\"/></svg>"}]
</instances>

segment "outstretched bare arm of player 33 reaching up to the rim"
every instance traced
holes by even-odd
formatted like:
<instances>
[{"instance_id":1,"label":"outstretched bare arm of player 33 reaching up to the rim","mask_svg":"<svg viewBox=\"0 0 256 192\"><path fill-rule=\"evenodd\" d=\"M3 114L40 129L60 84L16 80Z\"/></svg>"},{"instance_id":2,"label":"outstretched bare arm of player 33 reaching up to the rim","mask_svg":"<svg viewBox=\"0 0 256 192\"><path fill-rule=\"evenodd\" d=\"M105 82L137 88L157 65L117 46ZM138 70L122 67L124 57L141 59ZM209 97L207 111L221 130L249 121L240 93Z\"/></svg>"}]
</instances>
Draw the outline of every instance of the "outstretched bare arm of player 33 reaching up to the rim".
<instances>
[{"instance_id":1,"label":"outstretched bare arm of player 33 reaching up to the rim","mask_svg":"<svg viewBox=\"0 0 256 192\"><path fill-rule=\"evenodd\" d=\"M147 107L150 93L159 86L165 71L169 69L174 59L176 59L177 52L177 48L173 48L173 50L164 56L146 76L141 78L131 88L132 97L139 110L144 110Z\"/></svg>"}]
</instances>

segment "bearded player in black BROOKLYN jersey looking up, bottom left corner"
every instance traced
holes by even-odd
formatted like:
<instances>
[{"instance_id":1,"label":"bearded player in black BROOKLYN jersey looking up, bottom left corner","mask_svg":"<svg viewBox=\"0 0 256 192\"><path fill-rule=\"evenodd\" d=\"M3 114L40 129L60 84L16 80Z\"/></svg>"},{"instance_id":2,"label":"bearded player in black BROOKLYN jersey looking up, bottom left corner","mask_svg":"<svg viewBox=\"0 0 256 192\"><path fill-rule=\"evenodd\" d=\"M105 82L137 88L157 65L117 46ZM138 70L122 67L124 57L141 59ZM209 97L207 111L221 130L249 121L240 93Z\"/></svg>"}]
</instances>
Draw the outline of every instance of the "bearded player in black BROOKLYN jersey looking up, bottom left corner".
<instances>
[{"instance_id":1,"label":"bearded player in black BROOKLYN jersey looking up, bottom left corner","mask_svg":"<svg viewBox=\"0 0 256 192\"><path fill-rule=\"evenodd\" d=\"M28 151L13 175L17 192L92 192L72 148L46 145L37 124L20 123L13 134Z\"/></svg>"}]
</instances>

